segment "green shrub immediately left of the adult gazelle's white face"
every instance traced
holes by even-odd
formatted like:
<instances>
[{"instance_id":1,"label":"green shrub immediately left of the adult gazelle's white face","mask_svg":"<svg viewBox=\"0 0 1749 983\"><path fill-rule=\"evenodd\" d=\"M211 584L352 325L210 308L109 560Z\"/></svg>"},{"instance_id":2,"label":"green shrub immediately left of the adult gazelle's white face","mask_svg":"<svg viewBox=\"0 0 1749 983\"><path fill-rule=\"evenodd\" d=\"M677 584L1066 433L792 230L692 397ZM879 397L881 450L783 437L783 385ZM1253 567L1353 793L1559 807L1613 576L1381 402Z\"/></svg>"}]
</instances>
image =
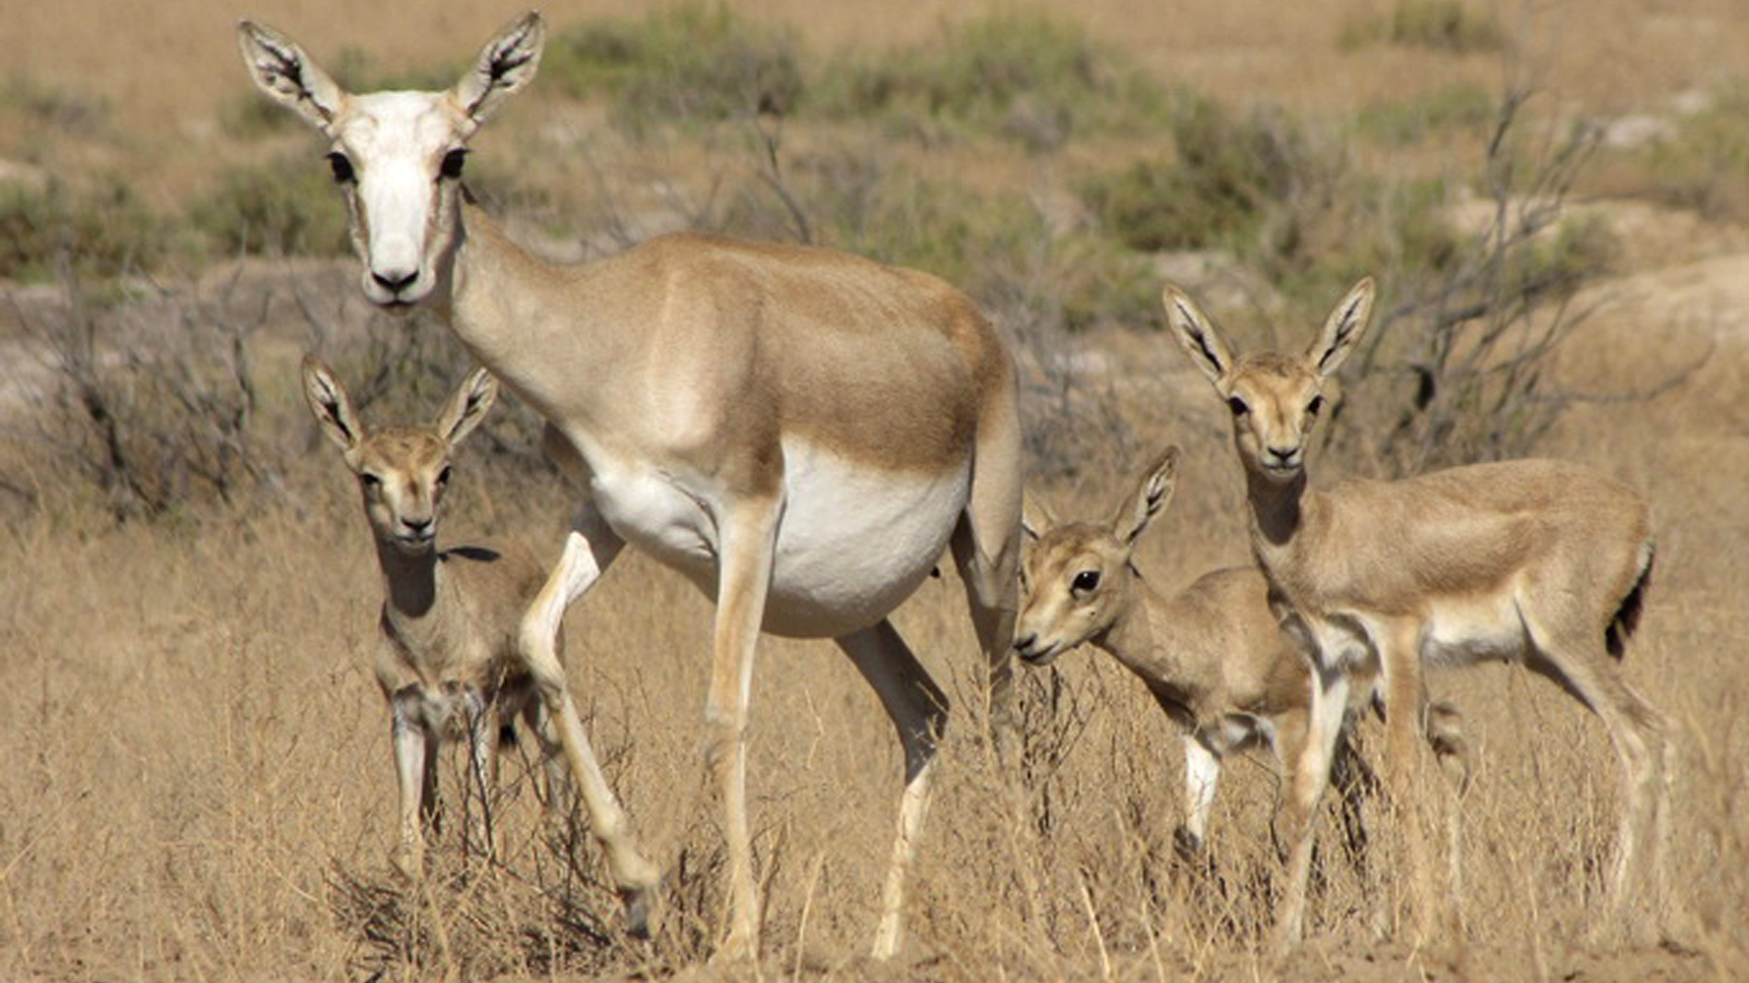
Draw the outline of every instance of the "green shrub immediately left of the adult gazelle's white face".
<instances>
[{"instance_id":1,"label":"green shrub immediately left of the adult gazelle's white face","mask_svg":"<svg viewBox=\"0 0 1749 983\"><path fill-rule=\"evenodd\" d=\"M346 250L346 208L310 154L231 168L189 222L222 254L334 255Z\"/></svg>"}]
</instances>

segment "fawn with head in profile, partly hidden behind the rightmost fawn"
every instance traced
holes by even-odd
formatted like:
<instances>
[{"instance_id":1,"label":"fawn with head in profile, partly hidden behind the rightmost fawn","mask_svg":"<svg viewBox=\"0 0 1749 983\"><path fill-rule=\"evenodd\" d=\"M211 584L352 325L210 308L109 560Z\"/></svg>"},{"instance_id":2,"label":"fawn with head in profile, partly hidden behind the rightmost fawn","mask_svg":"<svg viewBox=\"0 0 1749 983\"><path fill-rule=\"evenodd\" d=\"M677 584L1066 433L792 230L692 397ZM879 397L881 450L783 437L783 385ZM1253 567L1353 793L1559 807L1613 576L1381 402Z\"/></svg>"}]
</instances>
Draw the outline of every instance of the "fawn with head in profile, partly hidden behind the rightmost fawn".
<instances>
[{"instance_id":1,"label":"fawn with head in profile, partly hidden behind the rightmost fawn","mask_svg":"<svg viewBox=\"0 0 1749 983\"><path fill-rule=\"evenodd\" d=\"M1014 651L1034 666L1091 644L1133 672L1184 731L1184 826L1181 852L1205 843L1221 764L1230 754L1268 745L1291 770L1303 761L1312 705L1310 672L1282 635L1258 567L1203 574L1175 595L1163 595L1135 565L1142 533L1172 498L1179 450L1167 448L1140 476L1135 492L1109 519L1049 521L1028 533L1035 542L1023 561L1027 596L1014 626ZM1354 693L1354 712L1371 703L1371 689ZM1436 703L1427 712L1427 740L1439 756L1464 761L1462 719ZM1336 785L1350 820L1350 847L1361 847L1357 796L1368 775L1354 747L1340 738ZM1298 785L1298 784L1296 784Z\"/></svg>"}]
</instances>

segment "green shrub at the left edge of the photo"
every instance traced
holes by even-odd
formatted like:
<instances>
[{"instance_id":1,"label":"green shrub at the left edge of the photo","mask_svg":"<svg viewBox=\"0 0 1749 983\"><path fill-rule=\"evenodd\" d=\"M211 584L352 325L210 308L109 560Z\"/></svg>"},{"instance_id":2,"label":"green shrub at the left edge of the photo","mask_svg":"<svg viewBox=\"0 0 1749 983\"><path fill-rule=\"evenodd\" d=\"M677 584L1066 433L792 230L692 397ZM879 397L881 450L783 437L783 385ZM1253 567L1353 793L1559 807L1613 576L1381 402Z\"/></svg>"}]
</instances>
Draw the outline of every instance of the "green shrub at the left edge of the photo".
<instances>
[{"instance_id":1,"label":"green shrub at the left edge of the photo","mask_svg":"<svg viewBox=\"0 0 1749 983\"><path fill-rule=\"evenodd\" d=\"M150 269L163 254L159 222L117 177L91 189L0 184L0 276L47 280L65 259L82 278L107 278Z\"/></svg>"}]
</instances>

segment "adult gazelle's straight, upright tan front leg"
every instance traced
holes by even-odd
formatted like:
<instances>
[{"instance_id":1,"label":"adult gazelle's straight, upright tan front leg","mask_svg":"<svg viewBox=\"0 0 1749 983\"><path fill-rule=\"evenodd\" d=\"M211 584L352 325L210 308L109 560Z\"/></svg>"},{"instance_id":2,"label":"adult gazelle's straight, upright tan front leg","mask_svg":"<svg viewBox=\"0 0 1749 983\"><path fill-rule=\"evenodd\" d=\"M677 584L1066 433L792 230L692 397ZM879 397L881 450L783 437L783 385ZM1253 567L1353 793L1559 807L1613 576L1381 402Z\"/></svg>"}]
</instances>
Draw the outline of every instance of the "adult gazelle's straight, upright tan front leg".
<instances>
[{"instance_id":1,"label":"adult gazelle's straight, upright tan front leg","mask_svg":"<svg viewBox=\"0 0 1749 983\"><path fill-rule=\"evenodd\" d=\"M784 495L775 490L735 502L728 514L719 516L717 623L705 703L705 761L715 773L726 815L729 931L721 952L731 960L759 957L759 889L747 822L747 705L782 512Z\"/></svg>"}]
</instances>

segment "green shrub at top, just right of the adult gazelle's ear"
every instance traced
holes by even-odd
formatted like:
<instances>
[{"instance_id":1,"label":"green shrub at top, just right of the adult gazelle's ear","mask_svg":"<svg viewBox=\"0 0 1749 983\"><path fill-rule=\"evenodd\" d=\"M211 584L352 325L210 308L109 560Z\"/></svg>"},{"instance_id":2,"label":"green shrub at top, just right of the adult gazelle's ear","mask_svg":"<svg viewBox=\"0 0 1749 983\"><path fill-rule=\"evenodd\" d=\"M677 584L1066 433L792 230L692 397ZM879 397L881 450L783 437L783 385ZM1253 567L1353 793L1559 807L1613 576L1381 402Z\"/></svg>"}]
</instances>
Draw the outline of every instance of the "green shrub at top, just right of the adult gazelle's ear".
<instances>
[{"instance_id":1,"label":"green shrub at top, just right of the adult gazelle's ear","mask_svg":"<svg viewBox=\"0 0 1749 983\"><path fill-rule=\"evenodd\" d=\"M547 42L540 72L575 98L605 94L616 126L712 122L794 107L803 94L796 35L726 3L679 3L642 21L596 21Z\"/></svg>"}]
</instances>

